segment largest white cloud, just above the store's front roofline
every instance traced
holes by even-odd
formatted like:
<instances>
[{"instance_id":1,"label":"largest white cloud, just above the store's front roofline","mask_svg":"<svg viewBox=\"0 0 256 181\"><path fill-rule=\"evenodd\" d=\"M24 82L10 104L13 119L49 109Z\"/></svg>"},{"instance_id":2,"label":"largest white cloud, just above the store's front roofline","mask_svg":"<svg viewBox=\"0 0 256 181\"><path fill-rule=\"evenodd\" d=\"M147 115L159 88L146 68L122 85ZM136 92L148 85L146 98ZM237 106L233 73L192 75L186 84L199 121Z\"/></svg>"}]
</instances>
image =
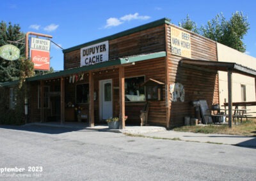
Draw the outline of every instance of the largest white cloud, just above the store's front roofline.
<instances>
[{"instance_id":1,"label":"largest white cloud, just above the store's front roofline","mask_svg":"<svg viewBox=\"0 0 256 181\"><path fill-rule=\"evenodd\" d=\"M108 18L104 28L118 26L120 24L123 24L126 21L131 21L131 20L148 20L149 18L150 17L148 17L148 16L140 16L139 13L124 15L121 18Z\"/></svg>"}]
</instances>

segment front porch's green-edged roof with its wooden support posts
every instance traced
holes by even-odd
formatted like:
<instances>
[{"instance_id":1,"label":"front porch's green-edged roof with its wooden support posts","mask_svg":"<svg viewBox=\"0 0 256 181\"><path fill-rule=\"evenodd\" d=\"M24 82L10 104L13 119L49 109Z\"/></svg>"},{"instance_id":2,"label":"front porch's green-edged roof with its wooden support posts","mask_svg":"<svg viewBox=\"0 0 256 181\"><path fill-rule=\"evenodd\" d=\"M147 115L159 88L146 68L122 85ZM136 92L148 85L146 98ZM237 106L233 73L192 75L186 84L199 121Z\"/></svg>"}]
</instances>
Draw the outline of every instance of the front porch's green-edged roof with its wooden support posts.
<instances>
[{"instance_id":1,"label":"front porch's green-edged roof with its wooden support posts","mask_svg":"<svg viewBox=\"0 0 256 181\"><path fill-rule=\"evenodd\" d=\"M95 110L95 107L99 106L100 104L100 96L99 96L99 89L95 87L100 87L99 82L101 80L109 80L115 78L115 85L112 85L112 90L115 92L115 99L118 104L113 104L113 116L119 117L120 120L120 129L125 128L125 76L124 76L124 69L125 67L134 66L136 62L145 61L148 59L156 59L159 57L164 57L166 52L158 52L154 54L146 54L146 55L138 55L133 57L125 57L120 59L115 59L112 61L102 62L100 64L93 64L91 66L83 66L80 68L73 68L73 69L66 69L64 71L59 71L56 73L51 73L47 75L40 75L34 76L31 78L27 78L27 82L33 84L33 82L38 82L40 87L40 94L44 95L44 87L50 81L58 80L58 83L55 83L55 87L58 87L59 92L55 92L54 94L58 94L60 101L60 124L66 124L67 118L70 115L67 113L67 103L70 102L68 100L68 89L67 84L68 82L72 82L77 78L81 78L80 75L83 75L83 78L86 78L86 83L88 84L88 104L86 104L85 109L86 113L86 124L88 127L95 126L95 117L96 119L100 118L99 110ZM108 76L106 76L108 74ZM79 75L77 77L76 75ZM52 94L52 92L51 92ZM74 92L73 92L74 94ZM76 92L75 92L76 94ZM96 98L95 98L96 97ZM77 98L78 99L78 98ZM45 99L44 96L40 96L40 122L45 122ZM74 101L73 101L74 102ZM74 109L72 109L74 110ZM74 111L73 111L74 112ZM95 115L95 112L97 115ZM99 113L99 116L98 116ZM84 122L78 124L84 124Z\"/></svg>"}]
</instances>

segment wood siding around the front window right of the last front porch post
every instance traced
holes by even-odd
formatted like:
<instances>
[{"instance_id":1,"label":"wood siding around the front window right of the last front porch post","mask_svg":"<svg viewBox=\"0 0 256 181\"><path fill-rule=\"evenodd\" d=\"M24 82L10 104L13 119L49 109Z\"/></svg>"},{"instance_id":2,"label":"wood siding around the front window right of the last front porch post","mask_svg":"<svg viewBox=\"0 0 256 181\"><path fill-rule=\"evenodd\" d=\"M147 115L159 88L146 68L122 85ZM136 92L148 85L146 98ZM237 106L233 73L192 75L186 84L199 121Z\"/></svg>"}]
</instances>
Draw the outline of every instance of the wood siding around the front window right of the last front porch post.
<instances>
[{"instance_id":1,"label":"wood siding around the front window right of the last front porch post","mask_svg":"<svg viewBox=\"0 0 256 181\"><path fill-rule=\"evenodd\" d=\"M152 59L147 61L136 62L134 66L125 67L125 78L134 76L145 76L145 81L149 78L165 82L165 57L161 59ZM148 101L148 124L166 126L166 110L164 100L163 87L163 101ZM125 113L128 115L127 124L140 124L140 110L142 110L145 103L125 103ZM130 119L131 118L131 119Z\"/></svg>"}]
</instances>

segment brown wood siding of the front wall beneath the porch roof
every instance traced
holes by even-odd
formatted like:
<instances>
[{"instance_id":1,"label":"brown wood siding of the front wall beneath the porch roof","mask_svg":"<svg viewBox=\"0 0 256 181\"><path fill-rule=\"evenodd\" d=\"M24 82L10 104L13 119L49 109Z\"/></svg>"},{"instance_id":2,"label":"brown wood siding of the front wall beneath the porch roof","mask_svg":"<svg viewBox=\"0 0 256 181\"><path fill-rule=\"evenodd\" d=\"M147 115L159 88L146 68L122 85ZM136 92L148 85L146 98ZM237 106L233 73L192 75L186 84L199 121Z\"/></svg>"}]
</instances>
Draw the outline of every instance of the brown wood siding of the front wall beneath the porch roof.
<instances>
[{"instance_id":1,"label":"brown wood siding of the front wall beneath the porch roof","mask_svg":"<svg viewBox=\"0 0 256 181\"><path fill-rule=\"evenodd\" d=\"M145 76L145 81L149 78L164 82L164 63L165 58L151 59L147 61L136 62L133 66L125 66L125 78ZM97 92L97 100L94 102L94 116L95 123L100 123L99 119L99 81L111 79L113 83L113 117L119 116L119 80L118 80L118 68L103 69L99 71L93 71L94 91ZM88 83L88 73L84 73L84 80L76 83L65 82L65 102L76 101L76 85L80 83ZM165 94L163 89L163 95ZM164 96L163 96L164 98ZM149 113L148 124L165 126L166 111L165 101L148 101ZM140 110L143 109L145 102L125 102L125 115L128 116L126 124L140 125ZM84 110L88 110L88 104L81 105ZM102 122L106 123L106 122Z\"/></svg>"}]
</instances>

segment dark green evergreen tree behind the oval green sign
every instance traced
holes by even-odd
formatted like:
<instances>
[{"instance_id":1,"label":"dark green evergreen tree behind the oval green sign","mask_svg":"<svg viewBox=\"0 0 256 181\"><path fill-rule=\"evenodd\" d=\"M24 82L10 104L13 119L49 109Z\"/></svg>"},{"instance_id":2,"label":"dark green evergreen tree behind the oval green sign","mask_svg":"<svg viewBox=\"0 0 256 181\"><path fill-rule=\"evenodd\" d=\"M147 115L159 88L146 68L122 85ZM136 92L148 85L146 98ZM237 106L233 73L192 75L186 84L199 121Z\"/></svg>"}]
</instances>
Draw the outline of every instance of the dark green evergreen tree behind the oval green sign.
<instances>
[{"instance_id":1,"label":"dark green evergreen tree behind the oval green sign","mask_svg":"<svg viewBox=\"0 0 256 181\"><path fill-rule=\"evenodd\" d=\"M20 32L19 24L12 25L9 22L8 26L5 22L0 23L0 47L10 44L8 41L18 41L25 38L25 34ZM20 49L20 55L24 56L25 45L15 45ZM6 61L0 57L0 82L8 82L19 79L20 76L20 61Z\"/></svg>"}]
</instances>

